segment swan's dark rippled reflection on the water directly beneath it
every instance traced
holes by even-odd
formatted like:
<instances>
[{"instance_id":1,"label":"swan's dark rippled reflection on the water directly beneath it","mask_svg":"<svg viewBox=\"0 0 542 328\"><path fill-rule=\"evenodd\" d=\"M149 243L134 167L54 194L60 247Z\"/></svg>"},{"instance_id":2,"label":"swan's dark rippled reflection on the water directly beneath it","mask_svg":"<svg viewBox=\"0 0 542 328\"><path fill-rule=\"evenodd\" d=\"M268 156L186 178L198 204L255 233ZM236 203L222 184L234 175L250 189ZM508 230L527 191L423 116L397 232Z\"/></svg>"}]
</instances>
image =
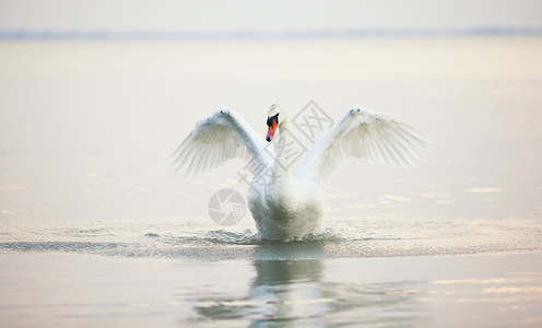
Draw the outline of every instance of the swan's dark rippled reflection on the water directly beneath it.
<instances>
[{"instance_id":1,"label":"swan's dark rippled reflection on the water directly beneath it","mask_svg":"<svg viewBox=\"0 0 542 328\"><path fill-rule=\"evenodd\" d=\"M323 260L310 259L321 247L321 243L258 245L251 261L256 277L248 295L201 297L196 311L212 319L249 318L252 326L326 315L332 295L322 289Z\"/></svg>"}]
</instances>

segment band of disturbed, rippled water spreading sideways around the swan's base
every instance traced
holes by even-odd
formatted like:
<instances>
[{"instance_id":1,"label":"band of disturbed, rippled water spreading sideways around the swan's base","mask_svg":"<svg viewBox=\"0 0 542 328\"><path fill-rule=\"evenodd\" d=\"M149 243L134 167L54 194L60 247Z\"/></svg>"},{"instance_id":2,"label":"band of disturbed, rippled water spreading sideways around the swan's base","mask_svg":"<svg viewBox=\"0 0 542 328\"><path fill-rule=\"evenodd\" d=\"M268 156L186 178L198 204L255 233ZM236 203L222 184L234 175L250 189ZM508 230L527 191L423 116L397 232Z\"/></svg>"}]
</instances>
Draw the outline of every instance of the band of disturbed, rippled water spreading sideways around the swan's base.
<instances>
[{"instance_id":1,"label":"band of disturbed, rippled water spreading sideways around the swan's base","mask_svg":"<svg viewBox=\"0 0 542 328\"><path fill-rule=\"evenodd\" d=\"M542 226L533 221L325 221L318 232L282 242L258 239L245 218L220 229L209 218L149 221L78 221L57 226L13 226L2 232L3 250L69 251L130 258L292 260L457 255L540 250ZM196 222L204 221L203 224ZM50 225L50 224L47 224ZM219 227L219 229L216 229Z\"/></svg>"}]
</instances>

